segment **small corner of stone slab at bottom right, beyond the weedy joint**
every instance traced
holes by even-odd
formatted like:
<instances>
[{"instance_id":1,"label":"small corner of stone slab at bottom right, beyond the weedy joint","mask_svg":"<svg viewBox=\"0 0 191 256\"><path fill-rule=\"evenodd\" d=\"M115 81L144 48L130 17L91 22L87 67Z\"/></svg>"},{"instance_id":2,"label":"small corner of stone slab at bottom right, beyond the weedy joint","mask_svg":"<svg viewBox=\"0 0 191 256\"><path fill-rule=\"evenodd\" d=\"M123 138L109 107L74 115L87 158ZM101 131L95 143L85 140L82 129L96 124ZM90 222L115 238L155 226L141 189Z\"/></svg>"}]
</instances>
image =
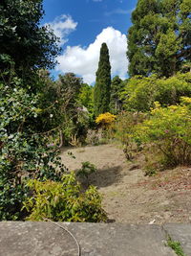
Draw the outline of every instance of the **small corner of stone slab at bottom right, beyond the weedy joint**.
<instances>
[{"instance_id":1,"label":"small corner of stone slab at bottom right, beyond the weedy joint","mask_svg":"<svg viewBox=\"0 0 191 256\"><path fill-rule=\"evenodd\" d=\"M169 223L163 228L172 240L179 241L186 256L191 256L191 223Z\"/></svg>"}]
</instances>

